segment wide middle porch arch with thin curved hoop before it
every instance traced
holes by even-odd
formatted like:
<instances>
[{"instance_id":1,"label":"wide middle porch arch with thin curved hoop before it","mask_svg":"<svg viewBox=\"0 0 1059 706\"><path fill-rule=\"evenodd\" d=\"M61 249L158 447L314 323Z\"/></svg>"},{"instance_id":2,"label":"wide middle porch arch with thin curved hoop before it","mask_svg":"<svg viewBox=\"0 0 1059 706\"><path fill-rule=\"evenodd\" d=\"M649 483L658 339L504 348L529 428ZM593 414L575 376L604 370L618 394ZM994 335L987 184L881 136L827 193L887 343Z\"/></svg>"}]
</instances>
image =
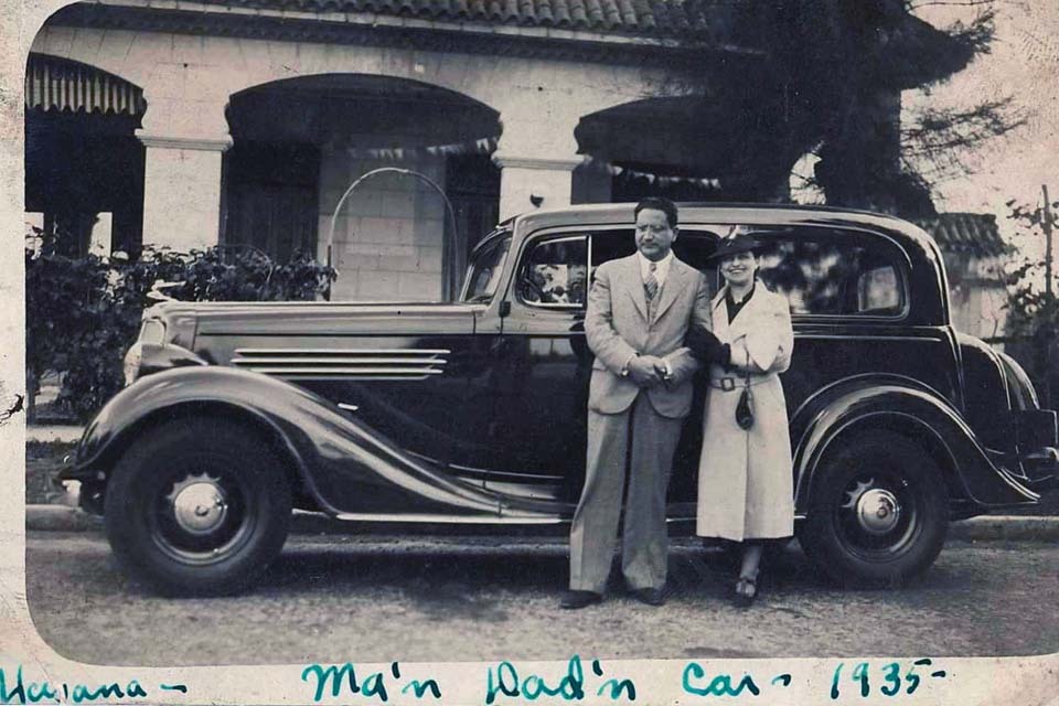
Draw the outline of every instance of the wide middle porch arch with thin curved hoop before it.
<instances>
[{"instance_id":1,"label":"wide middle porch arch with thin curved hoop before it","mask_svg":"<svg viewBox=\"0 0 1059 706\"><path fill-rule=\"evenodd\" d=\"M232 96L224 160L223 242L286 260L310 253L339 270L332 299L442 299L468 248L496 221L495 110L418 82L360 74L284 79ZM336 214L342 193L381 167ZM448 245L447 245L448 244Z\"/></svg>"}]
</instances>

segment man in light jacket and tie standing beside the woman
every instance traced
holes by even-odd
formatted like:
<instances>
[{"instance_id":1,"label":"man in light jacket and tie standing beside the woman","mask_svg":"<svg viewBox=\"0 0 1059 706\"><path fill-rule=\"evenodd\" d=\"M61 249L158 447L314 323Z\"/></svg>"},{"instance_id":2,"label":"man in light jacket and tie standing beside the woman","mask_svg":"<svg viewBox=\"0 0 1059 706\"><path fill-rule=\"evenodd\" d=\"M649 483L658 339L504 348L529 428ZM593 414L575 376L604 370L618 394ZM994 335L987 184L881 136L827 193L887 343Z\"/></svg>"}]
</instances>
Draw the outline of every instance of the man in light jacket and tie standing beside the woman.
<instances>
[{"instance_id":1,"label":"man in light jacket and tie standing beside the woman","mask_svg":"<svg viewBox=\"0 0 1059 706\"><path fill-rule=\"evenodd\" d=\"M672 202L644 199L635 220L638 252L600 265L588 296L585 333L596 360L570 590L560 603L567 609L602 598L627 479L622 574L635 598L665 602L665 495L698 367L684 336L692 322L709 330L709 292L703 275L673 256Z\"/></svg>"}]
</instances>

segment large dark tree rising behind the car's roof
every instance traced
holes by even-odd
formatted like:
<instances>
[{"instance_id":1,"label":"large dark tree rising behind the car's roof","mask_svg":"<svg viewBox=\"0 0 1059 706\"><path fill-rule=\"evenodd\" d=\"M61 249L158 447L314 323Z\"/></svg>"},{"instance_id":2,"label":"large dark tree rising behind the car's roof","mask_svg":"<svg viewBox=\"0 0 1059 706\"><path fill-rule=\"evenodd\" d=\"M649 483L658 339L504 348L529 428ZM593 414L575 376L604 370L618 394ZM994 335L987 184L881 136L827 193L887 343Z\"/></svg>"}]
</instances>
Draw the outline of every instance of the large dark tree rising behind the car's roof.
<instances>
[{"instance_id":1,"label":"large dark tree rising behind the car's roof","mask_svg":"<svg viewBox=\"0 0 1059 706\"><path fill-rule=\"evenodd\" d=\"M935 184L965 174L971 151L1025 121L1012 98L982 100L967 109L929 108L900 124L900 92L930 87L988 53L995 12L992 0L948 0L975 18L934 28L914 11L929 0L750 0L714 2L727 8L727 38L757 46L766 58L753 69L703 69L699 89L714 99L752 106L740 116L764 131L759 162L785 161L806 152L820 161L812 181L827 203L934 215ZM732 9L736 8L736 9ZM716 10L716 8L713 8ZM714 34L687 40L706 46ZM704 55L700 64L716 60ZM745 95L747 94L747 95ZM705 136L704 136L705 137ZM758 137L750 137L753 152Z\"/></svg>"}]
</instances>

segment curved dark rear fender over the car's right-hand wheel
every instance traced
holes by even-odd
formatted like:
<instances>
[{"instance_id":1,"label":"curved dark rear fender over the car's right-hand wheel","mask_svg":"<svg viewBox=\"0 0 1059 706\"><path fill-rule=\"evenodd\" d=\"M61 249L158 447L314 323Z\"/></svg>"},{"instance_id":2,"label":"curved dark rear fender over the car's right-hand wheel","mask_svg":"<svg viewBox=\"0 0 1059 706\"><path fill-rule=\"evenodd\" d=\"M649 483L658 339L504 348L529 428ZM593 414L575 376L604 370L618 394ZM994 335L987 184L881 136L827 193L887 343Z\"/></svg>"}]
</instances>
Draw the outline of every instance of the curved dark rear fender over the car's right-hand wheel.
<instances>
[{"instance_id":1,"label":"curved dark rear fender over the car's right-hand wheel","mask_svg":"<svg viewBox=\"0 0 1059 706\"><path fill-rule=\"evenodd\" d=\"M1038 495L990 453L948 400L899 376L862 376L837 383L806 400L792 418L794 503L804 514L817 469L839 438L860 429L888 428L923 446L945 474L950 496L982 507L1036 502Z\"/></svg>"}]
</instances>

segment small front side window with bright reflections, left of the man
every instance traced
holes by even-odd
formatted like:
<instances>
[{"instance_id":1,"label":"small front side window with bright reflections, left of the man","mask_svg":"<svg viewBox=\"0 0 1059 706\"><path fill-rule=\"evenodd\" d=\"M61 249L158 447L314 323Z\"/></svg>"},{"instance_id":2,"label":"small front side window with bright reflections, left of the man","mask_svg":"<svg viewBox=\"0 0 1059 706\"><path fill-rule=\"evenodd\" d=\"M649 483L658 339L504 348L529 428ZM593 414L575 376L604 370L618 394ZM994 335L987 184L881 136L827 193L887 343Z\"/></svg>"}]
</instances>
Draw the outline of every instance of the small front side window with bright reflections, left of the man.
<instances>
[{"instance_id":1,"label":"small front side window with bright reflections, left of the man","mask_svg":"<svg viewBox=\"0 0 1059 706\"><path fill-rule=\"evenodd\" d=\"M588 291L588 236L530 245L518 270L518 299L538 307L582 307Z\"/></svg>"}]
</instances>

